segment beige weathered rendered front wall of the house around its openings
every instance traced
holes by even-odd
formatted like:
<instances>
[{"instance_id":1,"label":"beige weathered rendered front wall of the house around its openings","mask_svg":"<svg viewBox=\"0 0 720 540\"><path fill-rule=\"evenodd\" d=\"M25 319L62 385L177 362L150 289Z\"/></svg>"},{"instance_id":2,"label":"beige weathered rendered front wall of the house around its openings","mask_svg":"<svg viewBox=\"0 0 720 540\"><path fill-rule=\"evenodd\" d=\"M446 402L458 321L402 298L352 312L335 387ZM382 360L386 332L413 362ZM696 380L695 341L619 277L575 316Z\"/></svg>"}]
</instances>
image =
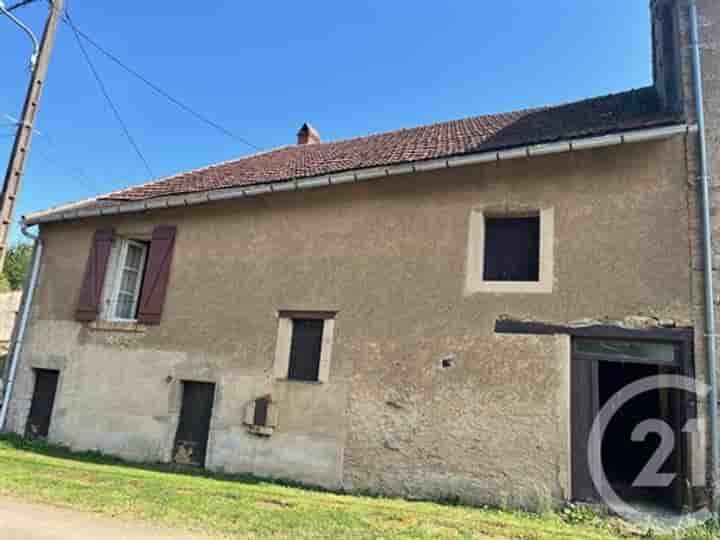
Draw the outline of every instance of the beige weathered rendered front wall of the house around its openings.
<instances>
[{"instance_id":1,"label":"beige weathered rendered front wall of the house around its openings","mask_svg":"<svg viewBox=\"0 0 720 540\"><path fill-rule=\"evenodd\" d=\"M570 494L569 338L494 333L645 315L692 325L686 138L42 227L10 410L60 369L50 439L168 461L180 381L216 383L207 466L332 488L537 506ZM474 211L552 208L550 293L466 291ZM157 327L74 321L96 229L178 227ZM336 310L327 383L278 380L281 309ZM271 394L271 437L245 407Z\"/></svg>"}]
</instances>

